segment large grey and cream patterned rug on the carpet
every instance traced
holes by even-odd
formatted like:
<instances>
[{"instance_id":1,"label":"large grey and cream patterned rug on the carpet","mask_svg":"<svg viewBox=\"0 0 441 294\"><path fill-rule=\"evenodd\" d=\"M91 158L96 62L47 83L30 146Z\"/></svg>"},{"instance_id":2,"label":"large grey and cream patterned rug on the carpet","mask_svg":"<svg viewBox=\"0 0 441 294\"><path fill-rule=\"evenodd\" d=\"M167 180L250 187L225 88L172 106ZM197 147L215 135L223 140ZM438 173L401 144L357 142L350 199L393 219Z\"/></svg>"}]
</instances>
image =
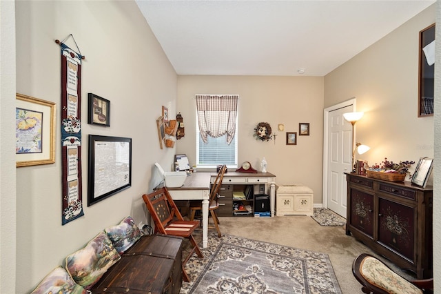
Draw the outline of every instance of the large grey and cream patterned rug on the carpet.
<instances>
[{"instance_id":1,"label":"large grey and cream patterned rug on the carpet","mask_svg":"<svg viewBox=\"0 0 441 294\"><path fill-rule=\"evenodd\" d=\"M208 244L187 263L181 293L341 293L327 254L216 232Z\"/></svg>"}]
</instances>

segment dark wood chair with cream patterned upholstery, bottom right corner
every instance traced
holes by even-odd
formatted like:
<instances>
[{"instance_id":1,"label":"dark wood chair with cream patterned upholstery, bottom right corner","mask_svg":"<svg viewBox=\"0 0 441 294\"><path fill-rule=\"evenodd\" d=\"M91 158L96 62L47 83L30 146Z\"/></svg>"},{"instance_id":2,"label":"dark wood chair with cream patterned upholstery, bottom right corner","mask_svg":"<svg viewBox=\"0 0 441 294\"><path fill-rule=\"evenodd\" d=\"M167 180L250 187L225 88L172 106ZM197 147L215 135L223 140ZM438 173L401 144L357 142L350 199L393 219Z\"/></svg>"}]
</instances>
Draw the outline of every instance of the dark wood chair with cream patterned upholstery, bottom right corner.
<instances>
[{"instance_id":1,"label":"dark wood chair with cream patterned upholstery, bottom right corner","mask_svg":"<svg viewBox=\"0 0 441 294\"><path fill-rule=\"evenodd\" d=\"M352 264L352 273L363 293L433 293L433 279L408 281L370 254L362 253Z\"/></svg>"}]
</instances>

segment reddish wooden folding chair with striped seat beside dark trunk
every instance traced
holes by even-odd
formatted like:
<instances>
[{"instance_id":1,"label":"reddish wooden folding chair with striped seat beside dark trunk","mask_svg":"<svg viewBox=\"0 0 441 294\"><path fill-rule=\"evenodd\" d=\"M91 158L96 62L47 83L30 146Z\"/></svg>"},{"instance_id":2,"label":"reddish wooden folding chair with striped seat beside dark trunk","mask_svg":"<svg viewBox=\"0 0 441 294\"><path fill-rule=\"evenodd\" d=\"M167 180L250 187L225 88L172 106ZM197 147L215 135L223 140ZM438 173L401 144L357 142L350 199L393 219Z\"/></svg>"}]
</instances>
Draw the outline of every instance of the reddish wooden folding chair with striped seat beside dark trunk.
<instances>
[{"instance_id":1,"label":"reddish wooden folding chair with striped seat beside dark trunk","mask_svg":"<svg viewBox=\"0 0 441 294\"><path fill-rule=\"evenodd\" d=\"M185 221L165 187L153 193L144 194L143 199L154 221L156 233L184 237L189 239L192 244L192 250L182 263L183 280L189 282L189 276L185 272L185 264L187 264L194 252L196 252L198 257L204 257L192 235L194 230L199 227L200 222Z\"/></svg>"}]
</instances>

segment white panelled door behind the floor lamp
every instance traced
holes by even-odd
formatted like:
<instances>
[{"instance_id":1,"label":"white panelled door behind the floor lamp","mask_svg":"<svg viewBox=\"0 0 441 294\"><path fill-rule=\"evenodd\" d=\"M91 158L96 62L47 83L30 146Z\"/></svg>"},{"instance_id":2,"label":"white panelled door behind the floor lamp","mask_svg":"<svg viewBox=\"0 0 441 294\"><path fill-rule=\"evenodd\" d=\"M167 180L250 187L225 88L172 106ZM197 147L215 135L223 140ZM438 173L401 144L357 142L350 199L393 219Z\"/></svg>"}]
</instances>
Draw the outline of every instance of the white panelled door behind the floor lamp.
<instances>
[{"instance_id":1,"label":"white panelled door behind the floor lamp","mask_svg":"<svg viewBox=\"0 0 441 294\"><path fill-rule=\"evenodd\" d=\"M346 217L347 184L346 175L351 171L352 126L343 113L352 112L353 106L329 111L328 119L328 170L327 206L342 217Z\"/></svg>"}]
</instances>

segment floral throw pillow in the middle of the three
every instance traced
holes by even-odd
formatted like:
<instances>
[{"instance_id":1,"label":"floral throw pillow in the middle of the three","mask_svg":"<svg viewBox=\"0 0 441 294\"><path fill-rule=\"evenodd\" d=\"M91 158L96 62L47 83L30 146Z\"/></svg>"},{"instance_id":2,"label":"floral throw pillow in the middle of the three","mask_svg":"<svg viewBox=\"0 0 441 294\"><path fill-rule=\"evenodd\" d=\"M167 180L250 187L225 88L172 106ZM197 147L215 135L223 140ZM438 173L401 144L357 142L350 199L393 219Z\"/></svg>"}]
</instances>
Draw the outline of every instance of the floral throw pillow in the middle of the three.
<instances>
[{"instance_id":1,"label":"floral throw pillow in the middle of the three","mask_svg":"<svg viewBox=\"0 0 441 294\"><path fill-rule=\"evenodd\" d=\"M103 231L79 251L66 257L66 268L76 284L86 289L99 281L110 266L121 256Z\"/></svg>"}]
</instances>

